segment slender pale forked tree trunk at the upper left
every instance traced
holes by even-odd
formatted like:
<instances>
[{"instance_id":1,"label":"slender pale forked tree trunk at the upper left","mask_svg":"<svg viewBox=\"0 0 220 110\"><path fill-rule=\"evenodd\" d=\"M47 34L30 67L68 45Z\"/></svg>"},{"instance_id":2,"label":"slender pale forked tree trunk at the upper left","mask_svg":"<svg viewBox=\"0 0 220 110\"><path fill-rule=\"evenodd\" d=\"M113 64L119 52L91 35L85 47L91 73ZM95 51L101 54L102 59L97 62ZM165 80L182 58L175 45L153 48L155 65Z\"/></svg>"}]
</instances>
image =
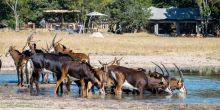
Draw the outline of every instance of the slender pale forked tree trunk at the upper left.
<instances>
[{"instance_id":1,"label":"slender pale forked tree trunk at the upper left","mask_svg":"<svg viewBox=\"0 0 220 110\"><path fill-rule=\"evenodd\" d=\"M13 11L15 18L15 31L19 31L19 15L17 13L18 0L6 0L5 2Z\"/></svg>"}]
</instances>

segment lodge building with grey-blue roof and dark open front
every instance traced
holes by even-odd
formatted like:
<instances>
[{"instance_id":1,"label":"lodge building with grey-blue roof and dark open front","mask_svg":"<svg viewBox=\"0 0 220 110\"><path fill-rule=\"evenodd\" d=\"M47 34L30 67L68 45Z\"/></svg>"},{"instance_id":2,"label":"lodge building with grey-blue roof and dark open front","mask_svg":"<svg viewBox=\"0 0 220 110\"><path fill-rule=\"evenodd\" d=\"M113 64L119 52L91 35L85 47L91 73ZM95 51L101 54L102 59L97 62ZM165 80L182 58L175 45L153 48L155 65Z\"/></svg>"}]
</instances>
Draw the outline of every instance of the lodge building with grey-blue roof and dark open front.
<instances>
[{"instance_id":1,"label":"lodge building with grey-blue roof and dark open front","mask_svg":"<svg viewBox=\"0 0 220 110\"><path fill-rule=\"evenodd\" d=\"M196 36L201 33L199 9L150 7L148 31L155 35Z\"/></svg>"}]
</instances>

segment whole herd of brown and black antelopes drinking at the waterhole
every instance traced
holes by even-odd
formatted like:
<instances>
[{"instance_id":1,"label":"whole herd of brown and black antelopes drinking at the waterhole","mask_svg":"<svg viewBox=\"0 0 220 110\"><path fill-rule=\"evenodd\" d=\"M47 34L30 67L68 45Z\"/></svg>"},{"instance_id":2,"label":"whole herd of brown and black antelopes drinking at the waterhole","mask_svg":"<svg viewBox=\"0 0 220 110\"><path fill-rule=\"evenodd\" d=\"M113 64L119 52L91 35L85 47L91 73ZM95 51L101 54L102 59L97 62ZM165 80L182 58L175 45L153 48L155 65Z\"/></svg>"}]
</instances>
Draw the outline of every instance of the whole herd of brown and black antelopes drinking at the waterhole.
<instances>
[{"instance_id":1,"label":"whole herd of brown and black antelopes drinking at the waterhole","mask_svg":"<svg viewBox=\"0 0 220 110\"><path fill-rule=\"evenodd\" d=\"M145 94L146 91L153 94L173 94L175 90L187 93L184 86L184 79L181 70L176 64L173 64L179 71L180 79L170 76L164 64L162 67L154 62L160 71L146 71L143 68L128 68L120 65L122 58L113 59L111 62L99 61L101 67L94 68L90 64L89 55L84 53L75 53L70 48L61 44L54 36L51 45L47 44L47 49L37 49L36 42L33 41L31 34L22 52L19 52L15 46L10 46L8 54L14 60L17 72L18 86L24 86L24 77L29 84L30 94L39 95L39 78L48 83L48 71L53 73L56 85L54 93L63 93L63 84L66 85L68 93L72 81L79 87L79 94L83 97L88 96L90 89L94 92L96 87L101 94L120 95L123 92L137 95ZM1 62L0 62L1 67ZM166 74L164 72L166 71ZM44 81L45 79L45 81ZM34 85L36 92L34 92Z\"/></svg>"}]
</instances>

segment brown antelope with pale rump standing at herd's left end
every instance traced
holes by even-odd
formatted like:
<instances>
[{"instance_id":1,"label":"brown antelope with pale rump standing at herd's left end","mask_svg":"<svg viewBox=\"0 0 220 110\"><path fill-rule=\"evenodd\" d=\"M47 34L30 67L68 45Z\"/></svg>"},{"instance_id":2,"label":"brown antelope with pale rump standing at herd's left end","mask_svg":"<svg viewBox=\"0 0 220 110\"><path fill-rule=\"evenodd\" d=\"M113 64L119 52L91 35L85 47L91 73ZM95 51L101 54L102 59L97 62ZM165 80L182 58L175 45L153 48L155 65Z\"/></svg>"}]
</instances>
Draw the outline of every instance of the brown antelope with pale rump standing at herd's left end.
<instances>
[{"instance_id":1,"label":"brown antelope with pale rump standing at herd's left end","mask_svg":"<svg viewBox=\"0 0 220 110\"><path fill-rule=\"evenodd\" d=\"M14 60L14 64L17 71L17 78L18 78L18 85L23 86L23 79L24 79L24 73L25 73L25 67L27 69L26 78L27 83L30 80L30 64L28 63L28 59L24 57L24 55L15 49L15 46L10 46L8 52L5 54L7 56L8 54L11 55L12 59ZM21 70L19 72L19 70ZM20 76L20 77L19 77ZM20 81L21 78L21 81Z\"/></svg>"}]
</instances>

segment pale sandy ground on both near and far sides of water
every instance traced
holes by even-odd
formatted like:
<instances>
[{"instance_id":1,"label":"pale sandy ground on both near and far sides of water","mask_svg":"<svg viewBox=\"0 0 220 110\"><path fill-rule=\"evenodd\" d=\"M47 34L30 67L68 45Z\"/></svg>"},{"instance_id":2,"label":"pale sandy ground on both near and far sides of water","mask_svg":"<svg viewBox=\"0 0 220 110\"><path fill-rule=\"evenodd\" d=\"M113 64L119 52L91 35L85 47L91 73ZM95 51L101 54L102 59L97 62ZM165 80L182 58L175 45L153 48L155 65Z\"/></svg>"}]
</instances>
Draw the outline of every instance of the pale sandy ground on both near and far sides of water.
<instances>
[{"instance_id":1,"label":"pale sandy ground on both near and far sides of water","mask_svg":"<svg viewBox=\"0 0 220 110\"><path fill-rule=\"evenodd\" d=\"M114 59L112 55L90 55L91 64L99 67L98 60L109 62ZM206 56L169 56L169 55L149 55L149 56L116 56L123 57L121 65L127 67L154 67L151 61L163 62L167 67L173 68L172 63L176 63L180 68L213 66L220 67L220 58ZM1 57L3 61L2 70L15 70L11 57ZM42 85L41 85L42 88ZM47 86L44 87L47 89ZM24 93L17 94L13 90L23 90ZM0 109L2 110L39 110L39 109L88 109L88 110L108 110L108 109L131 109L131 110L217 110L220 104L212 103L146 103L134 100L117 99L89 99L76 97L56 97L56 96L30 96L27 87L17 87L16 85L0 85Z\"/></svg>"}]
</instances>

